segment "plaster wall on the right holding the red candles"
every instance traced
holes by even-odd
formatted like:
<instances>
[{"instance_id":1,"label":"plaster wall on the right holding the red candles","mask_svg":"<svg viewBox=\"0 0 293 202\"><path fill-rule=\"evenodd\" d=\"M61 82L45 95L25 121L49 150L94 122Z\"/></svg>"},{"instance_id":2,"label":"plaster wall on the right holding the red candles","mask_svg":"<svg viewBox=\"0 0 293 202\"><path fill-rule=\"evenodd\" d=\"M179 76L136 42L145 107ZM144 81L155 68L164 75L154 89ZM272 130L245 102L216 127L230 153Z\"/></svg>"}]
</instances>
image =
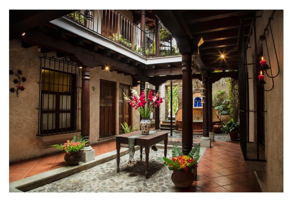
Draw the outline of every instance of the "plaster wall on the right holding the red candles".
<instances>
[{"instance_id":1,"label":"plaster wall on the right holding the red candles","mask_svg":"<svg viewBox=\"0 0 293 202\"><path fill-rule=\"evenodd\" d=\"M263 34L263 29L268 23L272 10L258 11L256 19L256 36ZM265 159L267 160L267 169L265 172L264 182L260 183L263 191L266 192L282 192L283 191L283 11L277 10L273 20L271 21L272 32L274 35L277 56L280 64L280 73L274 78L274 88L265 92ZM252 35L253 36L253 35ZM271 32L267 37L267 44L270 54L271 69L275 76L278 72L275 51L273 48ZM263 46L263 56L267 59L265 41L258 40L257 48ZM249 54L249 52L247 52ZM254 41L251 37L251 53L254 57ZM270 75L270 71L268 71ZM251 75L251 71L249 71ZM272 79L265 74L265 89L272 87ZM251 90L250 86L250 90ZM249 96L255 98L254 92L250 91ZM252 100L250 100L252 101ZM250 109L252 109L250 107ZM250 125L251 126L251 125Z\"/></svg>"}]
</instances>

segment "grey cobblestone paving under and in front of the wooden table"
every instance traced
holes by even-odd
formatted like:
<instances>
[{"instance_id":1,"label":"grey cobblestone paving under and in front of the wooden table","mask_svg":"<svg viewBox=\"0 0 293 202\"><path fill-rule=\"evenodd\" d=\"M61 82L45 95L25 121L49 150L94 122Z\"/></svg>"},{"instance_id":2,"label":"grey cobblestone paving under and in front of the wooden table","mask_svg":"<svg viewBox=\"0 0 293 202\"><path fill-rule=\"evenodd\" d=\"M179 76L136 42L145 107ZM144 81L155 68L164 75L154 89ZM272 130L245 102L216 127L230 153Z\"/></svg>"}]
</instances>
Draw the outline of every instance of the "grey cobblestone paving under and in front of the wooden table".
<instances>
[{"instance_id":1,"label":"grey cobblestone paving under and in front of the wooden table","mask_svg":"<svg viewBox=\"0 0 293 202\"><path fill-rule=\"evenodd\" d=\"M150 150L149 179L145 179L144 175L144 152L142 161L139 155L138 150L134 154L137 166L133 169L126 167L129 159L127 154L120 157L119 173L116 172L114 159L29 192L165 192L172 184L172 171L157 160L157 156L163 157L164 150ZM168 150L167 157L171 156L172 150Z\"/></svg>"}]
</instances>

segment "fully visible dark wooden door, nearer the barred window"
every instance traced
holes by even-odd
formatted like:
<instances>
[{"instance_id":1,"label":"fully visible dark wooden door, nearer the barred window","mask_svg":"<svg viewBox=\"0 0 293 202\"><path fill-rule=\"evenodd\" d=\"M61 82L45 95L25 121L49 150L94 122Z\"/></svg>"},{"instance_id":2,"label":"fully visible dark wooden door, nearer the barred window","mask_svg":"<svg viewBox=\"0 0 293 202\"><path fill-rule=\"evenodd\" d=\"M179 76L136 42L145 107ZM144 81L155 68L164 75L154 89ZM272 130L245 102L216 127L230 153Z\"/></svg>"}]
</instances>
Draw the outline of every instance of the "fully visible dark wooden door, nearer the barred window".
<instances>
[{"instance_id":1,"label":"fully visible dark wooden door, nearer the barred window","mask_svg":"<svg viewBox=\"0 0 293 202\"><path fill-rule=\"evenodd\" d=\"M100 137L115 135L115 82L100 80Z\"/></svg>"}]
</instances>

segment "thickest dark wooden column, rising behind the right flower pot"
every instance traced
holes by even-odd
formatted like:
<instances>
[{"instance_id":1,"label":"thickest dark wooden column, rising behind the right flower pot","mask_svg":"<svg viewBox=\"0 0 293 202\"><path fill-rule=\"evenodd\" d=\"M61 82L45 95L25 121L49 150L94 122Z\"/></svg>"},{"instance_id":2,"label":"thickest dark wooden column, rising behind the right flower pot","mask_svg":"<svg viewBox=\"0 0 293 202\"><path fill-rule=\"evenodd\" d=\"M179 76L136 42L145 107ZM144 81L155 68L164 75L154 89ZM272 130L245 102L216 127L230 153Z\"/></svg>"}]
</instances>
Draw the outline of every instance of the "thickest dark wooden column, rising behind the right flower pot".
<instances>
[{"instance_id":1,"label":"thickest dark wooden column, rising behind the right flower pot","mask_svg":"<svg viewBox=\"0 0 293 202\"><path fill-rule=\"evenodd\" d=\"M187 155L192 149L192 56L182 54L182 152Z\"/></svg>"}]
</instances>

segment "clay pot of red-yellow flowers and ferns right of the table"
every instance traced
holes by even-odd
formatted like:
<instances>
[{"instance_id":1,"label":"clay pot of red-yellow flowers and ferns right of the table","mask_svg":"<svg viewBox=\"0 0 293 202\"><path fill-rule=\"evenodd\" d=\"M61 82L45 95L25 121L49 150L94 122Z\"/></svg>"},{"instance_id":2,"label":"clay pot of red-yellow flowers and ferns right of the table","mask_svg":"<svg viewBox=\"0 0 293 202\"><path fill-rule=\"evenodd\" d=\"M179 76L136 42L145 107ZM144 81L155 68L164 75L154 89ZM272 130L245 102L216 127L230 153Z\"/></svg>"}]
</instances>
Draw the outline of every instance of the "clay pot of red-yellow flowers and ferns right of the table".
<instances>
[{"instance_id":1,"label":"clay pot of red-yellow flowers and ferns right of the table","mask_svg":"<svg viewBox=\"0 0 293 202\"><path fill-rule=\"evenodd\" d=\"M184 189L190 187L193 183L192 169L197 167L199 154L200 145L195 145L188 155L184 155L177 145L173 145L172 159L166 157L158 157L158 159L163 161L169 170L173 170L171 179L175 186Z\"/></svg>"}]
</instances>

